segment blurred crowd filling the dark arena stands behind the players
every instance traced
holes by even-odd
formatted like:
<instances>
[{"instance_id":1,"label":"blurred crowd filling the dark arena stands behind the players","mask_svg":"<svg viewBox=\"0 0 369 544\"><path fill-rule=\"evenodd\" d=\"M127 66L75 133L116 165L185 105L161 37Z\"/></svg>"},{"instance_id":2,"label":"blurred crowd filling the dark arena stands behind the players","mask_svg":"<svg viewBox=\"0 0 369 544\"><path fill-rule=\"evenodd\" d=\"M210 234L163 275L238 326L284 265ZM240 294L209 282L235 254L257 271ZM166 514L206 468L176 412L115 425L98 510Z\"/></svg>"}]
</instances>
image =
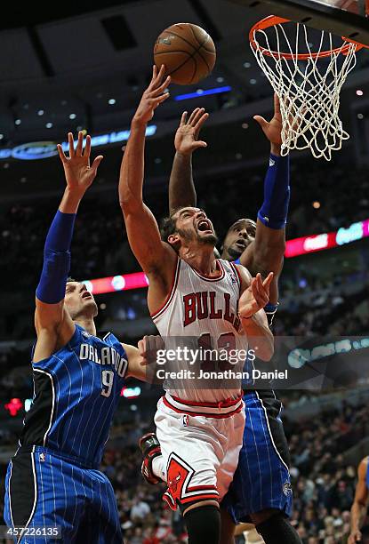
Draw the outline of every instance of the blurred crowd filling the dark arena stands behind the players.
<instances>
[{"instance_id":1,"label":"blurred crowd filling the dark arena stands behind the players","mask_svg":"<svg viewBox=\"0 0 369 544\"><path fill-rule=\"evenodd\" d=\"M238 172L214 180L199 179L198 205L213 219L220 237L238 217L256 216L262 199L261 169ZM347 189L349 181L349 190ZM211 190L209 190L211 183ZM351 222L369 217L369 181L366 172L355 175L346 166L319 163L301 172L292 166L292 199L287 238L308 236L349 226ZM324 198L329 195L329 202ZM344 198L342 198L344 195ZM325 196L325 197L324 197ZM327 198L328 200L328 198ZM318 201L320 207L312 203ZM166 214L166 200L148 193L148 204L156 217ZM42 267L44 237L52 220L58 199L49 201L47 213L42 201L37 204L14 205L0 217L0 252L2 274L7 278L8 291L28 292L33 297ZM16 263L16 266L14 266ZM77 279L139 270L129 248L124 223L117 202L100 201L99 196L86 199L76 220L72 246L72 274ZM355 278L354 278L355 279ZM368 281L364 272L359 278ZM313 286L310 300L295 295L303 284L285 284L286 302L278 311L277 335L312 336L321 334L360 334L369 332L369 303L364 290L354 294L345 291L352 277L342 276L332 284L321 284L309 277ZM356 281L356 280L355 280ZM10 323L10 324L9 324ZM12 328L4 329L6 334ZM29 319L29 326L32 326ZM31 386L30 374L10 373L28 365L29 349L12 348L0 352L0 386L9 398L18 396L20 388ZM292 396L285 398L284 404ZM352 408L342 402L340 410L322 412L314 419L285 419L289 439L293 476L292 523L303 544L341 544L349 532L349 508L356 484L356 468L347 465L344 453L367 436L369 408L366 404ZM140 453L137 438L148 430L148 421L126 423L113 435L124 436L124 446L108 444L102 470L112 482L124 529L130 544L174 544L186 542L185 528L179 513L164 506L161 495L164 484L149 486L140 476ZM0 445L16 444L12 430L2 428ZM4 482L4 465L1 480ZM2 511L0 498L0 513ZM1 520L0 520L1 521ZM240 542L242 540L239 540Z\"/></svg>"}]
</instances>

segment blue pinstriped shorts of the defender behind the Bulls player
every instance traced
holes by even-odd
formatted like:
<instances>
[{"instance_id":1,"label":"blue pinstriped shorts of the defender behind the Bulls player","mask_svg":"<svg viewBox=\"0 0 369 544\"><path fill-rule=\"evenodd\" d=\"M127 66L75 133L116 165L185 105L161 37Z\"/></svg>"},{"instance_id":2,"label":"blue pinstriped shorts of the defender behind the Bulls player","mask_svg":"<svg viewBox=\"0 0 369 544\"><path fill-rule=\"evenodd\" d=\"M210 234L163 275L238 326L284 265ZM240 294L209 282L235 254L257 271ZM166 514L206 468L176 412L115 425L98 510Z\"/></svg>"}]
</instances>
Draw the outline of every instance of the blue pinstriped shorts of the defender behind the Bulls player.
<instances>
[{"instance_id":1,"label":"blue pinstriped shorts of the defender behind the Bulls player","mask_svg":"<svg viewBox=\"0 0 369 544\"><path fill-rule=\"evenodd\" d=\"M250 514L277 508L291 515L293 492L289 452L280 412L272 392L244 396L245 431L238 466L229 492L221 502L234 522L250 522Z\"/></svg>"}]
</instances>

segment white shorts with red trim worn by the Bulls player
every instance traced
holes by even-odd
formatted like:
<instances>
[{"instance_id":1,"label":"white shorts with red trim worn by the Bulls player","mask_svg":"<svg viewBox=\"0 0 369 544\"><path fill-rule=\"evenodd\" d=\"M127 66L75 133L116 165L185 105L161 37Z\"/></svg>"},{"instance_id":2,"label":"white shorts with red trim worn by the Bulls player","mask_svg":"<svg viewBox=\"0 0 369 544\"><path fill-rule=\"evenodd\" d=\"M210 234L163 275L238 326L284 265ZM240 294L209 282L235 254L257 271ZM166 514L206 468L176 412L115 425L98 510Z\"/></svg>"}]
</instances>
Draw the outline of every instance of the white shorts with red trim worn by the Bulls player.
<instances>
[{"instance_id":1,"label":"white shorts with red trim worn by the Bulls player","mask_svg":"<svg viewBox=\"0 0 369 544\"><path fill-rule=\"evenodd\" d=\"M244 402L182 401L166 393L157 403L156 436L162 448L167 491L175 510L224 497L238 464L245 428Z\"/></svg>"}]
</instances>

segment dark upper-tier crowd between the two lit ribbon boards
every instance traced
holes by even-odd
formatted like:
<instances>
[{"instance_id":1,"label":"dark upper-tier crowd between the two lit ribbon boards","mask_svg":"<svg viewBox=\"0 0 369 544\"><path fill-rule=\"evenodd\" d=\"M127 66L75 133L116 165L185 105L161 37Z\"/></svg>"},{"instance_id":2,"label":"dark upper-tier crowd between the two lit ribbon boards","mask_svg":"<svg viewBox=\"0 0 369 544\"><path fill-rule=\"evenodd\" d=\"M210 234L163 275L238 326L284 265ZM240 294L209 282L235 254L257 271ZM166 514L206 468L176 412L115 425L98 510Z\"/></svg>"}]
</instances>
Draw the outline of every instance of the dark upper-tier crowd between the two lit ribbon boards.
<instances>
[{"instance_id":1,"label":"dark upper-tier crowd between the two lit ribbon boards","mask_svg":"<svg viewBox=\"0 0 369 544\"><path fill-rule=\"evenodd\" d=\"M292 197L286 236L293 238L329 232L368 216L366 172L348 171L351 166L311 163L301 172L292 165ZM252 217L262 202L265 168L236 172L197 182L198 204L213 220L217 233L224 236L239 217ZM348 175L349 191L347 190ZM355 175L354 175L355 174ZM150 188L148 180L148 189ZM209 190L211 188L211 190ZM148 204L159 220L167 214L166 189L150 194ZM114 193L115 195L115 193ZM342 195L345 195L342 198ZM313 203L320 207L314 208ZM36 288L42 267L44 238L59 198L31 204L12 205L0 217L1 270L13 291ZM47 212L45 212L45 209ZM16 266L14 266L16 263ZM76 220L72 244L72 274L76 278L114 276L139 270L130 251L122 213L112 196L86 197Z\"/></svg>"}]
</instances>

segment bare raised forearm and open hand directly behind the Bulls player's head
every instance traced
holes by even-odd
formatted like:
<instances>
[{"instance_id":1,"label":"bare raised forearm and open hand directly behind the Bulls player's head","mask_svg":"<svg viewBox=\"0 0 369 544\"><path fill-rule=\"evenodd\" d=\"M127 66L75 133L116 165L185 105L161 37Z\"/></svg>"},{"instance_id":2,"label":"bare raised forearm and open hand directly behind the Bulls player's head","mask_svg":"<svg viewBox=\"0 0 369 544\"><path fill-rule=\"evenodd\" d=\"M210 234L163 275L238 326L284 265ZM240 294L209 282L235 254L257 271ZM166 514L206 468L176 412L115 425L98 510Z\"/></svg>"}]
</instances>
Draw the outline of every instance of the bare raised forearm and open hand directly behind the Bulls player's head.
<instances>
[{"instance_id":1,"label":"bare raised forearm and open hand directly behind the Bulls player's head","mask_svg":"<svg viewBox=\"0 0 369 544\"><path fill-rule=\"evenodd\" d=\"M169 212L181 206L196 206L197 194L192 176L192 154L198 148L206 148L199 133L209 114L205 108L195 108L188 116L184 111L174 137L175 156L169 180Z\"/></svg>"}]
</instances>

